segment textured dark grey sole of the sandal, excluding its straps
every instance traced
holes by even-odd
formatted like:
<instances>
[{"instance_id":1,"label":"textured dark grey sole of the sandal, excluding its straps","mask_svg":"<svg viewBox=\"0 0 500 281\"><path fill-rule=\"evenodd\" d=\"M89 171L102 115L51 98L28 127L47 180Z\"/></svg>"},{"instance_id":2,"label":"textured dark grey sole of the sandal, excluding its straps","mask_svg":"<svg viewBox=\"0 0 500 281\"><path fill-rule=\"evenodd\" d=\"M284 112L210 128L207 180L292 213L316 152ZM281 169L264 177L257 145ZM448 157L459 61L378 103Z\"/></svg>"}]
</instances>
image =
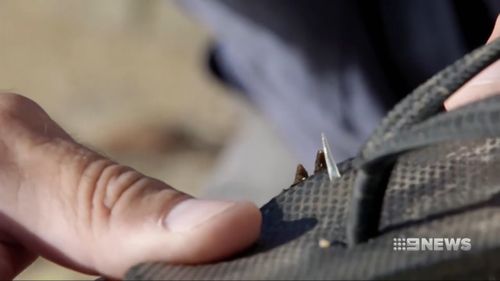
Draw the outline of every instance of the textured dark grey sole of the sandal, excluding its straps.
<instances>
[{"instance_id":1,"label":"textured dark grey sole of the sandal, excluding its straps","mask_svg":"<svg viewBox=\"0 0 500 281\"><path fill-rule=\"evenodd\" d=\"M383 203L380 235L346 246L356 171L325 172L262 207L257 244L199 266L146 263L127 279L484 279L500 277L500 139L436 145L400 157ZM470 238L470 251L398 251L394 238Z\"/></svg>"}]
</instances>

